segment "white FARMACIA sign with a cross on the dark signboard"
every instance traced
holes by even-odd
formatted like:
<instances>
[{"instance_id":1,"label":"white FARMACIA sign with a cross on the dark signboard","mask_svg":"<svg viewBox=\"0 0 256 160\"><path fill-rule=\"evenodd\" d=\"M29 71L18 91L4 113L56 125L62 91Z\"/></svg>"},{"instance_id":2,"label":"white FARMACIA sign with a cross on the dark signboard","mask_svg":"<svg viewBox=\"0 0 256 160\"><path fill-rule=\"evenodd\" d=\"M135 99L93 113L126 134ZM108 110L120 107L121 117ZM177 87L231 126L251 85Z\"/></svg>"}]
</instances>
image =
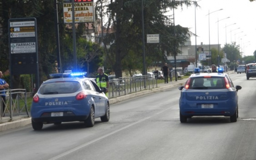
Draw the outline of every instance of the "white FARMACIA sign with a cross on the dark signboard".
<instances>
[{"instance_id":1,"label":"white FARMACIA sign with a cross on the dark signboard","mask_svg":"<svg viewBox=\"0 0 256 160\"><path fill-rule=\"evenodd\" d=\"M35 42L11 44L11 53L33 53L33 52L35 52Z\"/></svg>"}]
</instances>

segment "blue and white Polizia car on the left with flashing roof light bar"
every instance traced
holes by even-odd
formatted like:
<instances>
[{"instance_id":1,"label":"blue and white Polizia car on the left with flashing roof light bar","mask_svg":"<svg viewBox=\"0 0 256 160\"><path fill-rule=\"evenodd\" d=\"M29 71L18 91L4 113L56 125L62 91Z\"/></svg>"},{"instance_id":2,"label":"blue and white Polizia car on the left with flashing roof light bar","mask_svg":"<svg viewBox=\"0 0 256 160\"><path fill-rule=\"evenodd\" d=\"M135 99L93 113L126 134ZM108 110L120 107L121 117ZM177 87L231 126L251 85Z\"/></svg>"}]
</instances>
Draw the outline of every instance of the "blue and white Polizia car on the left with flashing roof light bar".
<instances>
[{"instance_id":1,"label":"blue and white Polizia car on the left with flashing roof light bar","mask_svg":"<svg viewBox=\"0 0 256 160\"><path fill-rule=\"evenodd\" d=\"M43 124L84 122L93 127L95 118L110 119L108 97L86 73L51 74L54 79L44 81L33 97L31 121L34 130Z\"/></svg>"}]
</instances>

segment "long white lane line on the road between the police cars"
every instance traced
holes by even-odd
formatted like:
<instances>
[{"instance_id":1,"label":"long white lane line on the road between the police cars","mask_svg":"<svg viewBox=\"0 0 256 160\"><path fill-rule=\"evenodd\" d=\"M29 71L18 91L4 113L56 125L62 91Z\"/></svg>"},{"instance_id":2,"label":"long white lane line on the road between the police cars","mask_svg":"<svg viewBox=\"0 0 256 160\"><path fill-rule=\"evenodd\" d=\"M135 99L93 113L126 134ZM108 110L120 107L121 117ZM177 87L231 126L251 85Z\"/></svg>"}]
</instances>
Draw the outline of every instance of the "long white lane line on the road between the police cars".
<instances>
[{"instance_id":1,"label":"long white lane line on the road between the police cars","mask_svg":"<svg viewBox=\"0 0 256 160\"><path fill-rule=\"evenodd\" d=\"M150 117L146 117L146 118L140 119L140 120L137 121L137 122L131 123L131 124L129 124L129 125L123 127L123 128L120 128L120 129L118 129L118 130L116 130L116 131L113 131L113 132L110 132L110 133L108 133L108 134L106 134L106 135L103 135L103 136L101 136L101 137L99 137L99 138L97 138L97 139L95 139L95 140L93 140L93 141L90 141L90 142L88 142L88 143L85 143L85 144L83 144L83 145L80 145L80 146L78 146L78 147L75 147L75 148L73 148L73 149L71 149L71 150L69 150L69 151L66 151L66 152L64 152L64 153L62 153L62 154L60 154L60 155L58 155L58 156L55 156L55 157L53 157L53 158L51 158L51 159L49 159L49 160L56 160L56 159L58 159L58 158L61 158L61 157L63 157L63 156L66 156L66 155L68 155L68 154L70 154L70 153L72 153L72 152L74 152L74 151L76 151L76 150L79 150L79 149L81 149L81 148L83 148L83 147L85 147L85 146L87 146L87 145L89 145L89 144L92 144L92 143L94 143L94 142L97 142L97 141L99 141L99 140L101 140L101 139L103 139L103 138L106 138L106 137L108 137L108 136L110 136L110 135L112 135L112 134L114 134L114 133L116 133L116 132L119 132L119 131L121 131L121 130L124 130L124 129L128 128L128 127L131 127L131 126L133 126L133 125L136 125L137 123L143 122L143 121L145 121L146 119L149 119L149 118L151 118L151 117L153 117L153 116L155 116L155 115L157 115L157 114L160 114L160 113L162 113L162 112L165 112L166 110L169 110L169 109L171 109L171 108L167 108L167 109L165 109L165 110L163 110L163 111L161 111L161 112L158 112L158 113L156 113L156 114L154 114L154 115L152 115L152 116L150 116Z\"/></svg>"}]
</instances>

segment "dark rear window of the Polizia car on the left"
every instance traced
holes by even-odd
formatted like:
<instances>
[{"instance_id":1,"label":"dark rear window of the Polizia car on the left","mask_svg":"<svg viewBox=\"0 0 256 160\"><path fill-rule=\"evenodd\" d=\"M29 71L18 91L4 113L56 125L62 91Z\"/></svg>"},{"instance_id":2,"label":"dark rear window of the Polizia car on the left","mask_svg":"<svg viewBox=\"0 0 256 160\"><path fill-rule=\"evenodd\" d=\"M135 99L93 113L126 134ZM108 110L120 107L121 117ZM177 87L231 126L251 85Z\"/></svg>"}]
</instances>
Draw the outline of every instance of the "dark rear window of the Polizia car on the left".
<instances>
[{"instance_id":1,"label":"dark rear window of the Polizia car on the left","mask_svg":"<svg viewBox=\"0 0 256 160\"><path fill-rule=\"evenodd\" d=\"M74 93L80 89L79 82L53 82L45 83L39 89L40 94L67 94Z\"/></svg>"}]
</instances>

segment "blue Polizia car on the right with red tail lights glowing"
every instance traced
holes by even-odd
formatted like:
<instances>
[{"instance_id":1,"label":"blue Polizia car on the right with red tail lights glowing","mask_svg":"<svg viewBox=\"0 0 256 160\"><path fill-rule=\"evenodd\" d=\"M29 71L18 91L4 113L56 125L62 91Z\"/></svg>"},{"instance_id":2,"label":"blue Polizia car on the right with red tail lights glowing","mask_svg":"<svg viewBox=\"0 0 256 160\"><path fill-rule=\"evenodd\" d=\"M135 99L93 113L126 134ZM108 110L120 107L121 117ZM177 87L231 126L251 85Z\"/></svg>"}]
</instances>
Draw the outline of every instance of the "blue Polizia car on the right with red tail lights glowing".
<instances>
[{"instance_id":1,"label":"blue Polizia car on the right with red tail lights glowing","mask_svg":"<svg viewBox=\"0 0 256 160\"><path fill-rule=\"evenodd\" d=\"M184 86L179 87L180 122L186 123L192 116L230 116L231 122L238 118L238 90L229 76L223 73L192 74Z\"/></svg>"}]
</instances>

